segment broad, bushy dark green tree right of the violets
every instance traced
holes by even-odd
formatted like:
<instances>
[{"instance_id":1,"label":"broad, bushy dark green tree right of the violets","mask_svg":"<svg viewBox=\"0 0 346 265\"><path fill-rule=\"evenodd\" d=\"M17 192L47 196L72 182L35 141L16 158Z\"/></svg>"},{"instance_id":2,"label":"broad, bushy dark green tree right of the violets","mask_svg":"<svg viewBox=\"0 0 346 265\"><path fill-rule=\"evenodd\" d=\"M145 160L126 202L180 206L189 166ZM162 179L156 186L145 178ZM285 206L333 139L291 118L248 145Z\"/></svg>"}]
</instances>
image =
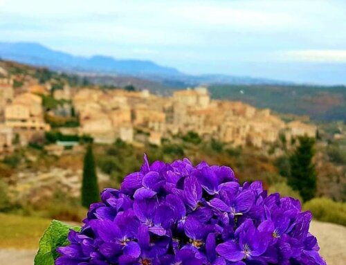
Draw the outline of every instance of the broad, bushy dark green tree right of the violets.
<instances>
[{"instance_id":1,"label":"broad, bushy dark green tree right of the violets","mask_svg":"<svg viewBox=\"0 0 346 265\"><path fill-rule=\"evenodd\" d=\"M299 145L290 157L291 174L288 184L298 190L304 201L309 201L316 194L316 170L312 163L315 139L303 136L298 138Z\"/></svg>"}]
</instances>

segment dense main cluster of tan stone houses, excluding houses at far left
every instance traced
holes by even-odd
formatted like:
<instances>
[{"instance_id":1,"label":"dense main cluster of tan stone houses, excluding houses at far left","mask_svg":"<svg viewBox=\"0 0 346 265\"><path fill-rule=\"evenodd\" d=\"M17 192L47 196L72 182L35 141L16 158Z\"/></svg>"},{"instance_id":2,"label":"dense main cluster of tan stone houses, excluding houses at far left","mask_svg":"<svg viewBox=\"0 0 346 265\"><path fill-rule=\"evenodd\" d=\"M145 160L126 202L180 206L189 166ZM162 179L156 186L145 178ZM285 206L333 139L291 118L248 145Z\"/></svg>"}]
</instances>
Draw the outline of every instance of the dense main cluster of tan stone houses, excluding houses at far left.
<instances>
[{"instance_id":1,"label":"dense main cluster of tan stone houses, excluding houses at far left","mask_svg":"<svg viewBox=\"0 0 346 265\"><path fill-rule=\"evenodd\" d=\"M215 138L235 146L262 147L280 134L287 139L307 134L316 127L299 121L285 123L269 109L255 109L242 102L211 100L206 87L175 91L170 98L149 91L96 91L81 89L72 98L80 115L79 134L95 143L143 141L134 131L147 133L147 141L161 145L163 138L194 131L203 138Z\"/></svg>"}]
</instances>

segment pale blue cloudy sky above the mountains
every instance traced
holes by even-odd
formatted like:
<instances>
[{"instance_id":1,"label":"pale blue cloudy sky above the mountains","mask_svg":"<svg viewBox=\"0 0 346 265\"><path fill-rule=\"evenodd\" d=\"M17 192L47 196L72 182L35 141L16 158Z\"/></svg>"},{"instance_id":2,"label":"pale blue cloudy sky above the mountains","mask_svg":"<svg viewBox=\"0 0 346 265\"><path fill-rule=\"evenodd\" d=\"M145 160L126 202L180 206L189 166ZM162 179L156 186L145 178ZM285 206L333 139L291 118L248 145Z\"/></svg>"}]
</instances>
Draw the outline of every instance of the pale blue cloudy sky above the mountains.
<instances>
[{"instance_id":1,"label":"pale blue cloudy sky above the mountains","mask_svg":"<svg viewBox=\"0 0 346 265\"><path fill-rule=\"evenodd\" d=\"M186 73L346 84L343 0L0 0L0 41Z\"/></svg>"}]
</instances>

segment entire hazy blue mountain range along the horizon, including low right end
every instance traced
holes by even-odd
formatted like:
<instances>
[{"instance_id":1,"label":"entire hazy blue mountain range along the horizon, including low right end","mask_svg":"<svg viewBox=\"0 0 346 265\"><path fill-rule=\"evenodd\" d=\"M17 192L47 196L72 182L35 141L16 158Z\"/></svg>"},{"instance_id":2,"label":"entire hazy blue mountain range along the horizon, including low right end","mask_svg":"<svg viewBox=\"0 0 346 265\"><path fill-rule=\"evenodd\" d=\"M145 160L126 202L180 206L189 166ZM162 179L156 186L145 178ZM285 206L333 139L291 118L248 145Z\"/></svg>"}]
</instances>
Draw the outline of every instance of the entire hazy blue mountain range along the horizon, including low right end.
<instances>
[{"instance_id":1,"label":"entire hazy blue mountain range along the horizon, including low right end","mask_svg":"<svg viewBox=\"0 0 346 265\"><path fill-rule=\"evenodd\" d=\"M199 84L288 84L275 80L233 75L187 75L176 68L160 66L151 61L117 60L102 55L80 57L54 51L32 42L0 42L0 57L33 66L45 66L55 71L140 77L176 88Z\"/></svg>"}]
</instances>

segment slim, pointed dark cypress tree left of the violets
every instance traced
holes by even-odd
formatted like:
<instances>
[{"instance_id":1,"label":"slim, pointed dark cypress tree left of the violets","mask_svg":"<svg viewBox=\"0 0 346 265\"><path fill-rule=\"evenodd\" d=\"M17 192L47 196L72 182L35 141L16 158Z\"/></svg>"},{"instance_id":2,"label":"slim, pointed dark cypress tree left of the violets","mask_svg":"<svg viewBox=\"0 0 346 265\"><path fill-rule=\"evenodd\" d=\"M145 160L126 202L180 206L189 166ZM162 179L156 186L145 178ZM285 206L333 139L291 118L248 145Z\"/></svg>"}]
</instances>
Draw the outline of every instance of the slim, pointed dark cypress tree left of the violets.
<instances>
[{"instance_id":1,"label":"slim, pointed dark cypress tree left of the violets","mask_svg":"<svg viewBox=\"0 0 346 265\"><path fill-rule=\"evenodd\" d=\"M91 203L100 201L98 188L98 176L96 175L93 148L88 145L84 156L83 181L82 181L82 205L89 208Z\"/></svg>"}]
</instances>

